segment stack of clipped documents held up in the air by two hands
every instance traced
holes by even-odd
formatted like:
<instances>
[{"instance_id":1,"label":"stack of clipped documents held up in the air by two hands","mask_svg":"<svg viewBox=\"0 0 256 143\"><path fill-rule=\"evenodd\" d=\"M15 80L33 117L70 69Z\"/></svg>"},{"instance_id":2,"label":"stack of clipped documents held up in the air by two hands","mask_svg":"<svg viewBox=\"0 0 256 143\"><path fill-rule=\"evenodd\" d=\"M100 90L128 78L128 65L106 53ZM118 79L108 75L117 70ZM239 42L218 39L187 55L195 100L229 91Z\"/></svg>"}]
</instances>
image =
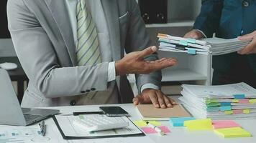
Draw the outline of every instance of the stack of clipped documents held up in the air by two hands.
<instances>
[{"instance_id":1,"label":"stack of clipped documents held up in the air by two hands","mask_svg":"<svg viewBox=\"0 0 256 143\"><path fill-rule=\"evenodd\" d=\"M201 40L185 39L179 36L158 34L160 51L174 51L188 54L229 54L243 49L252 40L206 38Z\"/></svg>"}]
</instances>

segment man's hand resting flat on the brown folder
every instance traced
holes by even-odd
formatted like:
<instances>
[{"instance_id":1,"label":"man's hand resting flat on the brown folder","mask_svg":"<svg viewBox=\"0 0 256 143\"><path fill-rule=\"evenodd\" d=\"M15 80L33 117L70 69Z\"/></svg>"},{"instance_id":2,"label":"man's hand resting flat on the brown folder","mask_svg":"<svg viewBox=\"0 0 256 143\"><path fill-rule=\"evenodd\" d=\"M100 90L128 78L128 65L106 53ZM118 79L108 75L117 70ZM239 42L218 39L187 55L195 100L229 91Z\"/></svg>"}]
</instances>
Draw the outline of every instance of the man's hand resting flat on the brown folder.
<instances>
[{"instance_id":1,"label":"man's hand resting flat on the brown folder","mask_svg":"<svg viewBox=\"0 0 256 143\"><path fill-rule=\"evenodd\" d=\"M135 97L132 102L134 105L152 103L156 108L173 107L176 104L173 99L170 99L157 89L144 89L142 94Z\"/></svg>"}]
</instances>

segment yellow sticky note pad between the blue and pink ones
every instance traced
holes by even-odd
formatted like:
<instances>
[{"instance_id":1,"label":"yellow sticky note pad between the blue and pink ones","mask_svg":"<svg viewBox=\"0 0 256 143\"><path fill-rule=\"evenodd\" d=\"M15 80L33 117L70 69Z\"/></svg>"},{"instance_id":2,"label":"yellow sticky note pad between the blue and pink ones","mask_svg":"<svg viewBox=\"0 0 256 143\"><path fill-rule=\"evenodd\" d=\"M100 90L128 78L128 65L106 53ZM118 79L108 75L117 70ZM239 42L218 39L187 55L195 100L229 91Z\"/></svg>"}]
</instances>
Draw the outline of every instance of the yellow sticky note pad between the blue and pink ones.
<instances>
[{"instance_id":1,"label":"yellow sticky note pad between the blue and pink ones","mask_svg":"<svg viewBox=\"0 0 256 143\"><path fill-rule=\"evenodd\" d=\"M184 126L186 126L187 129L191 131L213 129L211 119L196 119L185 121Z\"/></svg>"}]
</instances>

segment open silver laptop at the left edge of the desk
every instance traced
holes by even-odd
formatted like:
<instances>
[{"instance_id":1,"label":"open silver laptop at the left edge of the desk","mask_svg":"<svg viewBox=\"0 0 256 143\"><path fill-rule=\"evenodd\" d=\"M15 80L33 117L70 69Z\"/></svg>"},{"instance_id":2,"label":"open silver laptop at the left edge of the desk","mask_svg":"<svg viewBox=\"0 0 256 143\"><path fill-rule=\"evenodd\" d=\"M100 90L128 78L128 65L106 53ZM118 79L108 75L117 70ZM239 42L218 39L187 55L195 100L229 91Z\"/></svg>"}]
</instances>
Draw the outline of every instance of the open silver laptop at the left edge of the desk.
<instances>
[{"instance_id":1,"label":"open silver laptop at the left edge of the desk","mask_svg":"<svg viewBox=\"0 0 256 143\"><path fill-rule=\"evenodd\" d=\"M59 112L55 109L20 107L9 74L5 69L0 69L0 124L27 126Z\"/></svg>"}]
</instances>

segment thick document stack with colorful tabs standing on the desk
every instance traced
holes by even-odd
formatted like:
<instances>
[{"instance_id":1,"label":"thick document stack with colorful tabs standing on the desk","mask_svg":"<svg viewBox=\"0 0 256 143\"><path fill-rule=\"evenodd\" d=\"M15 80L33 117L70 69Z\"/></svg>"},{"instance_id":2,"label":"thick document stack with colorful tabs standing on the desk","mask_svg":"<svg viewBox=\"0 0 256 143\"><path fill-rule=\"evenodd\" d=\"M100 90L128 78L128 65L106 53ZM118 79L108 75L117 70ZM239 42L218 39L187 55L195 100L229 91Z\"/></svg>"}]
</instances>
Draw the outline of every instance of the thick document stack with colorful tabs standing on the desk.
<instances>
[{"instance_id":1,"label":"thick document stack with colorful tabs standing on the desk","mask_svg":"<svg viewBox=\"0 0 256 143\"><path fill-rule=\"evenodd\" d=\"M256 89L248 84L182 87L180 101L196 118L256 118Z\"/></svg>"}]
</instances>

